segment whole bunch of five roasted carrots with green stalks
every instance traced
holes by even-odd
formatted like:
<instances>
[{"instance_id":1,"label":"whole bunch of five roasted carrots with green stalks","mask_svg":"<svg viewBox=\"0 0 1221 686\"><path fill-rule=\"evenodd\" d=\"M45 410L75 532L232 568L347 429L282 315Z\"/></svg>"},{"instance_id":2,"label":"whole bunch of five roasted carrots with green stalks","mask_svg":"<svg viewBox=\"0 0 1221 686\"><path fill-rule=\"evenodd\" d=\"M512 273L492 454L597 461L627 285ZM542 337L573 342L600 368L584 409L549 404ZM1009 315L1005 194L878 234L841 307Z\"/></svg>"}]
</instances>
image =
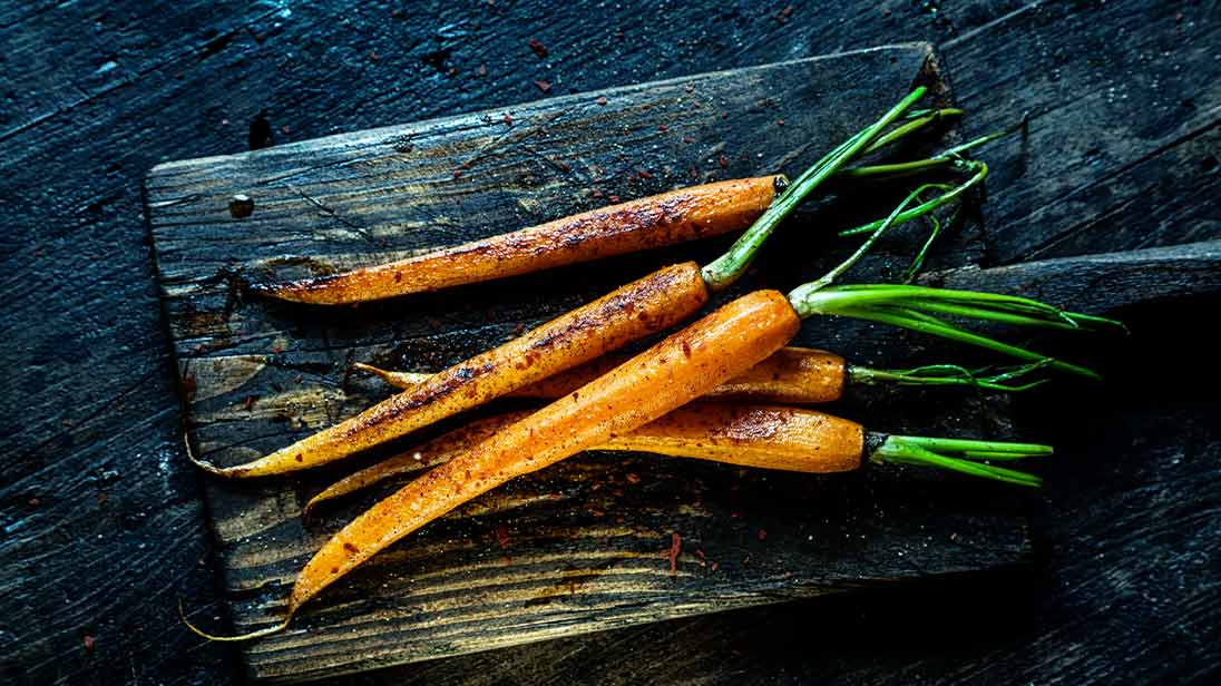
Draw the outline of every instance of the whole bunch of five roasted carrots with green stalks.
<instances>
[{"instance_id":1,"label":"whole bunch of five roasted carrots with green stalks","mask_svg":"<svg viewBox=\"0 0 1221 686\"><path fill-rule=\"evenodd\" d=\"M289 283L247 284L263 295L299 303L359 303L744 231L708 265L661 269L436 374L358 365L399 392L258 460L222 468L192 455L214 475L271 476L353 455L502 395L548 400L535 410L471 422L315 496L306 511L392 475L427 469L322 546L297 576L282 623L242 636L211 636L188 626L221 641L281 631L305 602L379 551L510 478L587 449L642 450L803 472L849 471L866 461L917 464L1038 486L1037 476L991 463L1049 455L1048 446L868 432L856 422L795 406L834 400L849 383L1018 391L1042 382L1020 378L1037 370L1096 377L1083 366L965 328L956 323L960 320L1071 331L1121 326L1011 295L908 284L835 284L891 227L927 218L933 231L912 261L908 273L913 275L941 228L935 212L988 175L987 165L965 154L1007 133L923 160L856 164L961 115L952 109L913 110L923 95L923 88L915 89L791 182L767 176L712 183L387 265ZM842 236L868 238L822 278L788 294L748 293L639 354L615 353L695 316L712 294L747 270L781 220L829 179L902 177L926 170L954 172L961 181L921 184L888 216L842 231ZM875 370L834 353L786 347L801 320L814 315L910 328L978 345L1021 364L988 371L950 364ZM189 443L187 448L190 453Z\"/></svg>"}]
</instances>

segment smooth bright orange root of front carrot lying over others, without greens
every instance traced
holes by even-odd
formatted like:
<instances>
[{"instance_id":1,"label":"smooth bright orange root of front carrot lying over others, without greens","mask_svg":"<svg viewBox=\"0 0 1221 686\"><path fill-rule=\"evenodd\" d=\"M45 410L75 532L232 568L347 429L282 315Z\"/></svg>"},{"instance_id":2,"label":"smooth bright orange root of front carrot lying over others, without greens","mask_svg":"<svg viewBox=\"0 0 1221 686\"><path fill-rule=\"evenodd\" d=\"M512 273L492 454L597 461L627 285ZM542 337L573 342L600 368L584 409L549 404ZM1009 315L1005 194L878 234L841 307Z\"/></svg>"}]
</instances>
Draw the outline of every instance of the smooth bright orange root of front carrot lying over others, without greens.
<instances>
[{"instance_id":1,"label":"smooth bright orange root of front carrot lying over others, without greens","mask_svg":"<svg viewBox=\"0 0 1221 686\"><path fill-rule=\"evenodd\" d=\"M626 435L781 348L801 322L777 291L744 295L379 502L297 576L288 615L376 552L453 508Z\"/></svg>"}]
</instances>

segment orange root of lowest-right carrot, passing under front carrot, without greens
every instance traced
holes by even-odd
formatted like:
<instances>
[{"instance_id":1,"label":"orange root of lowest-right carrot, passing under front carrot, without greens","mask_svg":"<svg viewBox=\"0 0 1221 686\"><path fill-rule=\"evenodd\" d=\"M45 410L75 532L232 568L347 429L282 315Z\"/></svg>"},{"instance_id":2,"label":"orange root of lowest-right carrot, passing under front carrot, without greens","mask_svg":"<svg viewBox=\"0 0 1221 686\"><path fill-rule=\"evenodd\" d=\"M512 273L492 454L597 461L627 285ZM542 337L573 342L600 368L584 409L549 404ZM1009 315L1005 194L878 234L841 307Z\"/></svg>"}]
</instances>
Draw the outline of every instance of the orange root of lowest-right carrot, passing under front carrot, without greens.
<instances>
[{"instance_id":1,"label":"orange root of lowest-right carrot, passing under front carrot, without greens","mask_svg":"<svg viewBox=\"0 0 1221 686\"><path fill-rule=\"evenodd\" d=\"M366 488L400 474L421 471L460 455L529 410L474 421L336 481L305 504ZM691 403L591 450L640 450L759 469L824 474L861 466L861 425L828 414L778 405Z\"/></svg>"}]
</instances>

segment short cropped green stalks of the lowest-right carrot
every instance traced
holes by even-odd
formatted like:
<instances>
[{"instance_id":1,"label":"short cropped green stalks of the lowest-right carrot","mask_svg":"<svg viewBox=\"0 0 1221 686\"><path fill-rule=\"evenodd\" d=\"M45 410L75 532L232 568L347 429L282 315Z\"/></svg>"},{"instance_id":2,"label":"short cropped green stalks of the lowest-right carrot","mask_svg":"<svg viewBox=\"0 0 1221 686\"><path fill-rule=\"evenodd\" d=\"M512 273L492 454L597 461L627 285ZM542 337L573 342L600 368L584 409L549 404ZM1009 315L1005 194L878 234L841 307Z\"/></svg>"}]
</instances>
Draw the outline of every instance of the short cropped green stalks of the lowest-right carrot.
<instances>
[{"instance_id":1,"label":"short cropped green stalks of the lowest-right carrot","mask_svg":"<svg viewBox=\"0 0 1221 686\"><path fill-rule=\"evenodd\" d=\"M1022 460L1051 454L1051 446L1037 443L888 436L869 455L869 461L932 466L1018 486L1037 487L1043 483L1043 480L1033 474L983 464L979 460Z\"/></svg>"}]
</instances>

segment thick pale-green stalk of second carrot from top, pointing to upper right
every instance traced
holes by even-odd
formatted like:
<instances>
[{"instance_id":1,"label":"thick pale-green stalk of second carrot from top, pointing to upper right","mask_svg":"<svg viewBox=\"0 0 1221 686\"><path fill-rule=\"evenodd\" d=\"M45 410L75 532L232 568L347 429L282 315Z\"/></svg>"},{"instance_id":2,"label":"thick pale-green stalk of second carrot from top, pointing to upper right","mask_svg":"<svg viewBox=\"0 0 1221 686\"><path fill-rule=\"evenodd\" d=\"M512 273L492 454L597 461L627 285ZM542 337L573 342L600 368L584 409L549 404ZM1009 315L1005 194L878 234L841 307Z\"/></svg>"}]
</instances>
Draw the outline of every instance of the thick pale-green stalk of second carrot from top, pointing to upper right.
<instances>
[{"instance_id":1,"label":"thick pale-green stalk of second carrot from top, pointing to upper right","mask_svg":"<svg viewBox=\"0 0 1221 686\"><path fill-rule=\"evenodd\" d=\"M806 170L792 184L777 198L763 215L755 221L746 233L729 250L703 267L703 281L711 291L720 291L740 277L758 253L763 242L810 193L834 175L845 164L867 149L883 131L904 115L917 100L924 96L924 87L916 88L889 112L872 126L841 144L830 155Z\"/></svg>"}]
</instances>

